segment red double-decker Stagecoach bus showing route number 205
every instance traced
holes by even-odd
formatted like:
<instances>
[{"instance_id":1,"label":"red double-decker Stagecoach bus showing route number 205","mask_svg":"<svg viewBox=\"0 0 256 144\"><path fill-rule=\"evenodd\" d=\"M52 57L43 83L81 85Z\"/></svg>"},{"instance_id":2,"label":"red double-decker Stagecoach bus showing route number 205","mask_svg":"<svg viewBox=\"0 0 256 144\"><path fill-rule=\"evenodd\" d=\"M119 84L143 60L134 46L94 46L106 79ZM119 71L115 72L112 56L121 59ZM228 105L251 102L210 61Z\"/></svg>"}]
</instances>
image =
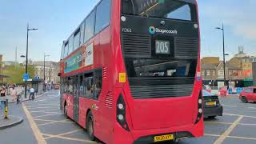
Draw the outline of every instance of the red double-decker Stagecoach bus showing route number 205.
<instances>
[{"instance_id":1,"label":"red double-decker Stagecoach bus showing route number 205","mask_svg":"<svg viewBox=\"0 0 256 144\"><path fill-rule=\"evenodd\" d=\"M61 109L106 143L203 135L195 0L102 0L62 46Z\"/></svg>"}]
</instances>

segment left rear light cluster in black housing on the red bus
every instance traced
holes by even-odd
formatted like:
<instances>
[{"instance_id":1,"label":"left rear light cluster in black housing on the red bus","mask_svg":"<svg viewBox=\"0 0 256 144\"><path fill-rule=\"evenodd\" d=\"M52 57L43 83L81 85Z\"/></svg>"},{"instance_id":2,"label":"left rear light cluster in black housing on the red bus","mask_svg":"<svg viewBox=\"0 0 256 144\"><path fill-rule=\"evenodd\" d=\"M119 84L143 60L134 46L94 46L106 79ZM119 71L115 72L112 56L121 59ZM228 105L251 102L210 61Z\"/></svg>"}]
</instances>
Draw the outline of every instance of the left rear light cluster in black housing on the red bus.
<instances>
[{"instance_id":1,"label":"left rear light cluster in black housing on the red bus","mask_svg":"<svg viewBox=\"0 0 256 144\"><path fill-rule=\"evenodd\" d=\"M126 122L126 102L124 101L122 94L118 97L117 102L117 122L122 126L123 129L130 131L129 126Z\"/></svg>"}]
</instances>

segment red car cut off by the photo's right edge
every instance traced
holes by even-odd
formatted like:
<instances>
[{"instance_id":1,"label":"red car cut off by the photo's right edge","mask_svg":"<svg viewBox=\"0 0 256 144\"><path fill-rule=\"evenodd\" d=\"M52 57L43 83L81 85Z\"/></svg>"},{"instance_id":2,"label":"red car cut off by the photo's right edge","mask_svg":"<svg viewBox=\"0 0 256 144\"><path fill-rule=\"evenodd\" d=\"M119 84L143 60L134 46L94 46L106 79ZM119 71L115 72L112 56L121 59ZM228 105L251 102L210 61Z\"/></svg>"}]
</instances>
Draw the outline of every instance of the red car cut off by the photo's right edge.
<instances>
[{"instance_id":1,"label":"red car cut off by the photo's right edge","mask_svg":"<svg viewBox=\"0 0 256 144\"><path fill-rule=\"evenodd\" d=\"M239 99L246 102L256 102L256 86L246 87L239 95Z\"/></svg>"}]
</instances>

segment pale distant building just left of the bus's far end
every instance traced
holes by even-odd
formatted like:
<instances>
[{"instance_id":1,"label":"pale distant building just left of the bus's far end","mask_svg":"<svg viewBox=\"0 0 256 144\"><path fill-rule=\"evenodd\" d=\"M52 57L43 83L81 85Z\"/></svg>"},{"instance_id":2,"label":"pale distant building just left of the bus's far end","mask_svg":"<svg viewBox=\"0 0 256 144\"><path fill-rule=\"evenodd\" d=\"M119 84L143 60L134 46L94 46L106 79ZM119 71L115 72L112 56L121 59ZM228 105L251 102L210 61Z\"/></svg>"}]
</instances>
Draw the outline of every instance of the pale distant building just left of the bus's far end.
<instances>
[{"instance_id":1,"label":"pale distant building just left of the bus's far end","mask_svg":"<svg viewBox=\"0 0 256 144\"><path fill-rule=\"evenodd\" d=\"M33 62L35 75L38 76L40 79L44 79L46 82L53 82L54 84L60 83L60 78L58 77L58 73L60 71L60 66L58 62L45 62L45 72L44 72L44 62L38 61Z\"/></svg>"}]
</instances>

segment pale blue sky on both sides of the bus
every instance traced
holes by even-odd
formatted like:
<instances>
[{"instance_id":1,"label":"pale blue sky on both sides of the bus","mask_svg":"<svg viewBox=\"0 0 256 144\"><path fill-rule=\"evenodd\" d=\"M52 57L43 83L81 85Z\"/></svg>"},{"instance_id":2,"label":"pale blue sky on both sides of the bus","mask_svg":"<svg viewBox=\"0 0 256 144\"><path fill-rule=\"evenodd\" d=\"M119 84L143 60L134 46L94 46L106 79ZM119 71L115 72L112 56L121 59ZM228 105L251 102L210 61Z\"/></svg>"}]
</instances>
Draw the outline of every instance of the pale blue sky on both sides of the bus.
<instances>
[{"instance_id":1,"label":"pale blue sky on both sides of the bus","mask_svg":"<svg viewBox=\"0 0 256 144\"><path fill-rule=\"evenodd\" d=\"M5 61L18 61L26 54L26 26L38 30L29 33L29 58L58 62L62 41L78 27L98 0L0 0L0 54ZM226 53L231 58L244 46L256 56L255 0L198 0L202 57L222 57L222 31L225 26Z\"/></svg>"}]
</instances>

